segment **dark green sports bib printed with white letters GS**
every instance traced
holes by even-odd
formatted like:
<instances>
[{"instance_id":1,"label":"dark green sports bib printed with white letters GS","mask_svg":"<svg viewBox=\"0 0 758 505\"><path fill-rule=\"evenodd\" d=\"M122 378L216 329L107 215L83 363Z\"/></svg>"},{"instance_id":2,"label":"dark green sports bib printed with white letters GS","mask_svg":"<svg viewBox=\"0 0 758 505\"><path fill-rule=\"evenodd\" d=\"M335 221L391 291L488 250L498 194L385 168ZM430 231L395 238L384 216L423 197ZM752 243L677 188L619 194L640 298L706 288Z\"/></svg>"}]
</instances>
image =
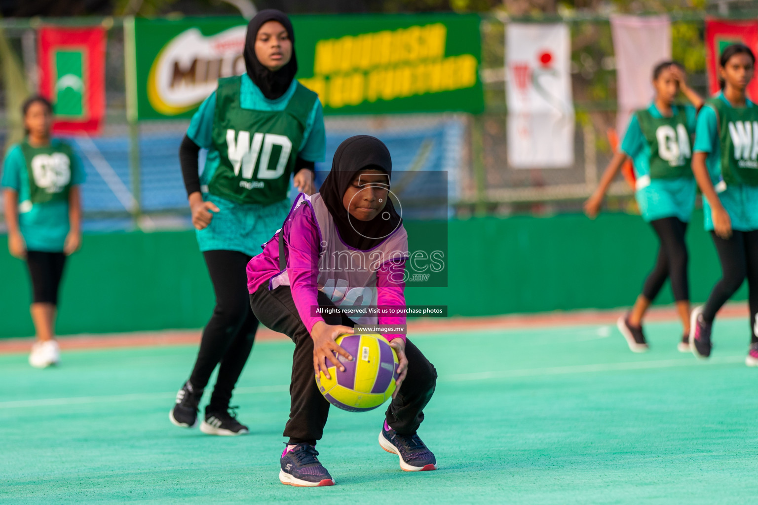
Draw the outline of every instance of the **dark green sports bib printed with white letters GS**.
<instances>
[{"instance_id":1,"label":"dark green sports bib printed with white letters GS","mask_svg":"<svg viewBox=\"0 0 758 505\"><path fill-rule=\"evenodd\" d=\"M71 188L70 145L58 142L42 148L32 147L27 140L20 144L29 173L29 195L33 204L47 201L68 201Z\"/></svg>"}]
</instances>

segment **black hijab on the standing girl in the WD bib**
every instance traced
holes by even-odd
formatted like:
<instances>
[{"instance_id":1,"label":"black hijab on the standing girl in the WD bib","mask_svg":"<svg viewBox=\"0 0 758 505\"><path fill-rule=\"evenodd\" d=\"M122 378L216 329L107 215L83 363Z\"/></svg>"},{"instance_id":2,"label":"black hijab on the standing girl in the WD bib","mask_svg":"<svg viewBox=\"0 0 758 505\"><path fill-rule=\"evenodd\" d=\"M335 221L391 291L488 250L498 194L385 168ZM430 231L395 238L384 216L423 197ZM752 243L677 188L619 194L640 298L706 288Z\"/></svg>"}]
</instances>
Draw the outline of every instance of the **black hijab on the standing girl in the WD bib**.
<instances>
[{"instance_id":1,"label":"black hijab on the standing girl in the WD bib","mask_svg":"<svg viewBox=\"0 0 758 505\"><path fill-rule=\"evenodd\" d=\"M258 30L261 29L263 23L267 21L278 21L282 23L284 29L290 36L292 41L292 58L286 65L281 67L276 72L271 72L268 68L258 61L258 57L255 56L255 37L258 36ZM292 84L292 79L295 78L297 73L297 58L295 57L295 30L292 29L292 23L287 14L276 9L265 9L264 11L255 14L255 17L247 23L247 33L245 34L245 51L243 52L245 58L245 67L247 75L250 76L255 86L263 92L263 95L269 100L275 100L279 98Z\"/></svg>"}]
</instances>

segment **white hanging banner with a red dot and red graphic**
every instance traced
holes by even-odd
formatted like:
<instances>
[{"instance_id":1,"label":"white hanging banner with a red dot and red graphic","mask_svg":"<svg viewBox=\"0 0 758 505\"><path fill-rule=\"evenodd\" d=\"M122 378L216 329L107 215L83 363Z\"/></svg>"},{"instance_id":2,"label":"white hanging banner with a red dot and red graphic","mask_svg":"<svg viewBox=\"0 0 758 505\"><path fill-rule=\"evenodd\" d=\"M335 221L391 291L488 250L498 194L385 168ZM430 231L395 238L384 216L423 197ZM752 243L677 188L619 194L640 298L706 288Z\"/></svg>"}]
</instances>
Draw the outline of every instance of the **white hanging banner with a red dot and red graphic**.
<instances>
[{"instance_id":1,"label":"white hanging banner with a red dot and red graphic","mask_svg":"<svg viewBox=\"0 0 758 505\"><path fill-rule=\"evenodd\" d=\"M508 163L512 168L574 164L570 64L567 25L507 26Z\"/></svg>"}]
</instances>

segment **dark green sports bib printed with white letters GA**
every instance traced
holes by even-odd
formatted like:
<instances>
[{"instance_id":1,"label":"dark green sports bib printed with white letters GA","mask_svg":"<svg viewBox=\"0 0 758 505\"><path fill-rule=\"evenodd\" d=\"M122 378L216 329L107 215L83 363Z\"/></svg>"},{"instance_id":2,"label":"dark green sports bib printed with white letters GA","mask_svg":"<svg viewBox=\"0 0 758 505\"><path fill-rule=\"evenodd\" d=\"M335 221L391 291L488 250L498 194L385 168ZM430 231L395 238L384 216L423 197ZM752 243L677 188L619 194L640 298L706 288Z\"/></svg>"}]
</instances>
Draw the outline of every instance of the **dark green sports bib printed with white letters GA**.
<instances>
[{"instance_id":1,"label":"dark green sports bib printed with white letters GA","mask_svg":"<svg viewBox=\"0 0 758 505\"><path fill-rule=\"evenodd\" d=\"M650 178L692 177L692 137L684 108L679 107L672 117L653 117L647 109L634 114L650 145Z\"/></svg>"}]
</instances>

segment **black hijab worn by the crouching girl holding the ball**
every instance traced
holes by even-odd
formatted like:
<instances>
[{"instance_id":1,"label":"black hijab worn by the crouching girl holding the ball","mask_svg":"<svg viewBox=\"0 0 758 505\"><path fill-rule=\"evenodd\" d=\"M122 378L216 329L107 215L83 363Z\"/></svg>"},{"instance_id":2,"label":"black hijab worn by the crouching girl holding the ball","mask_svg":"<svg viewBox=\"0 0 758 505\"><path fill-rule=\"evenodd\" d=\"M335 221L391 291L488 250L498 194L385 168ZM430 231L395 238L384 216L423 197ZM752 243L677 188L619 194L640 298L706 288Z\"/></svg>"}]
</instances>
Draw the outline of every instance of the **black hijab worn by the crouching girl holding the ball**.
<instances>
[{"instance_id":1,"label":"black hijab worn by the crouching girl holding the ball","mask_svg":"<svg viewBox=\"0 0 758 505\"><path fill-rule=\"evenodd\" d=\"M334 153L332 170L318 192L324 199L343 242L365 251L384 241L400 225L402 218L397 214L390 198L387 198L384 210L371 221L361 221L350 216L342 198L353 177L363 168L384 170L387 176L392 176L390 150L376 137L359 135L340 144ZM389 218L384 219L387 214Z\"/></svg>"}]
</instances>

